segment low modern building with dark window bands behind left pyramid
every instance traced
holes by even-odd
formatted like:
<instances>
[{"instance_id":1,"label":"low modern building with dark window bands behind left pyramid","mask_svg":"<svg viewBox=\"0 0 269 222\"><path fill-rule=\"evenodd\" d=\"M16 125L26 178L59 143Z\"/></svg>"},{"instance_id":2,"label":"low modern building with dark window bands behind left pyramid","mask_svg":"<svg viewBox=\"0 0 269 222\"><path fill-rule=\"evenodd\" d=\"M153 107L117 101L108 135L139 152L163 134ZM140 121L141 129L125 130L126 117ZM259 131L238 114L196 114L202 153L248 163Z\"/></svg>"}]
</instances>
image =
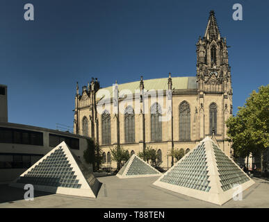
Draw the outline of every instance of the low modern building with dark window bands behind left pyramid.
<instances>
[{"instance_id":1,"label":"low modern building with dark window bands behind left pyramid","mask_svg":"<svg viewBox=\"0 0 269 222\"><path fill-rule=\"evenodd\" d=\"M15 180L63 141L85 164L83 151L88 146L87 137L47 128L0 122L0 182Z\"/></svg>"}]
</instances>

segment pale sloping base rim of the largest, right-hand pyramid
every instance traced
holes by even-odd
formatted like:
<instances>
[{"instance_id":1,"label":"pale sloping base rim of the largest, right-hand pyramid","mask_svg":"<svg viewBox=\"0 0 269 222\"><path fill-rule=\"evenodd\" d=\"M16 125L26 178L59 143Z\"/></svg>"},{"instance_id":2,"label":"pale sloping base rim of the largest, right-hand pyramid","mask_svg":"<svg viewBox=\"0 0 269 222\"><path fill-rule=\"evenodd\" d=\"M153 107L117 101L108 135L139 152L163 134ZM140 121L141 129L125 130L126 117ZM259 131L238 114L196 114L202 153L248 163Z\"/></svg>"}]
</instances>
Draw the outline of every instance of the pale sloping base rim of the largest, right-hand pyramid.
<instances>
[{"instance_id":1,"label":"pale sloping base rim of the largest, right-hand pyramid","mask_svg":"<svg viewBox=\"0 0 269 222\"><path fill-rule=\"evenodd\" d=\"M251 187L252 185L254 185L254 183L255 182L253 180L243 183L241 185L242 191ZM164 189L168 189L170 191L177 192L179 194L184 194L186 196L190 196L199 200L204 200L206 202L213 203L216 205L223 205L227 203L227 201L233 198L234 192L237 190L237 189L229 189L227 191L222 191L220 194L214 194L214 193L211 193L210 191L209 192L199 191L197 189L190 189L187 187L179 187L177 185L170 185L166 182L161 182L159 180L154 182L153 185L155 185L156 187L161 187Z\"/></svg>"}]
</instances>

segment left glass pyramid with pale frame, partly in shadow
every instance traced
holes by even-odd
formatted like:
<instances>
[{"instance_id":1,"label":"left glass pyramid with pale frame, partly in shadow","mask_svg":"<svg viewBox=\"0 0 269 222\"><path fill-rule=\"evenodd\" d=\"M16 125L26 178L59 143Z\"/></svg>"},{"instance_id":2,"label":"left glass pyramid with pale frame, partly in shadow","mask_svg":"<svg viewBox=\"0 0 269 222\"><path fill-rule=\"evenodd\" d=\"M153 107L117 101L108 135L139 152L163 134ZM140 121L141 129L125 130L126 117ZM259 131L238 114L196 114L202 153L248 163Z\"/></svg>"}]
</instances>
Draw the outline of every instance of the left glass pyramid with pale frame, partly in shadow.
<instances>
[{"instance_id":1,"label":"left glass pyramid with pale frame, partly in shadow","mask_svg":"<svg viewBox=\"0 0 269 222\"><path fill-rule=\"evenodd\" d=\"M25 184L32 184L38 191L91 198L97 197L101 185L65 142L44 155L10 187L24 188Z\"/></svg>"}]
</instances>

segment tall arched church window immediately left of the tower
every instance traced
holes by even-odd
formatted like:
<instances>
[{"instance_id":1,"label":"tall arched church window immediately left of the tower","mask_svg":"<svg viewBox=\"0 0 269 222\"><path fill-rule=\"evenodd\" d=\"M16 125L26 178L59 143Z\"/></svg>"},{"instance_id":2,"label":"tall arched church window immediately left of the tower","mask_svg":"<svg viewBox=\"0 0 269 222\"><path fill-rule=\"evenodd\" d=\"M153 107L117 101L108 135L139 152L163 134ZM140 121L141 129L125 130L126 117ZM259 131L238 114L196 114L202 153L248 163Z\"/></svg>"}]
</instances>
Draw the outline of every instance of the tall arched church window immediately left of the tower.
<instances>
[{"instance_id":1,"label":"tall arched church window immediately left of the tower","mask_svg":"<svg viewBox=\"0 0 269 222\"><path fill-rule=\"evenodd\" d=\"M186 101L179 105L179 141L190 141L190 105Z\"/></svg>"}]
</instances>

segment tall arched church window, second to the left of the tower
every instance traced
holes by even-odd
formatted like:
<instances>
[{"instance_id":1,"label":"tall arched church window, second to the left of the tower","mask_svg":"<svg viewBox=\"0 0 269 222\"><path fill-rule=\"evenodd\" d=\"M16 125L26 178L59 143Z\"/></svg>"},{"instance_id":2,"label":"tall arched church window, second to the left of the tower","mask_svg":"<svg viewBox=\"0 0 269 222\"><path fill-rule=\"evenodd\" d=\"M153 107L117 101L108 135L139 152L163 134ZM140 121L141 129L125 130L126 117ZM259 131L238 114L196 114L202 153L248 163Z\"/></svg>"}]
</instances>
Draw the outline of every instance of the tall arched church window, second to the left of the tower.
<instances>
[{"instance_id":1,"label":"tall arched church window, second to the left of the tower","mask_svg":"<svg viewBox=\"0 0 269 222\"><path fill-rule=\"evenodd\" d=\"M150 113L152 142L158 142L162 140L161 105L154 103L150 109Z\"/></svg>"}]
</instances>

